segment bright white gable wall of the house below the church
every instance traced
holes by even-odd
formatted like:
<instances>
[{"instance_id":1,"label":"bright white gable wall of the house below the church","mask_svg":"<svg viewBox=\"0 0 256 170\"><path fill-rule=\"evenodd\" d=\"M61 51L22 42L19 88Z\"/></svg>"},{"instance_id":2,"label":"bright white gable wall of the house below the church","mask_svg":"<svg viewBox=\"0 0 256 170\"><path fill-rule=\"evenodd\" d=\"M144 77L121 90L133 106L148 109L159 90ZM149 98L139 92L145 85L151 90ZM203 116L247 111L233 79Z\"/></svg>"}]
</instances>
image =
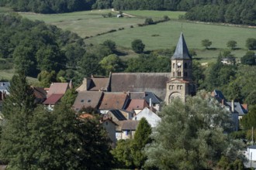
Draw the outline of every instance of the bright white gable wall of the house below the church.
<instances>
[{"instance_id":1,"label":"bright white gable wall of the house below the church","mask_svg":"<svg viewBox=\"0 0 256 170\"><path fill-rule=\"evenodd\" d=\"M161 121L161 118L148 107L145 107L144 110L141 110L140 113L133 117L133 120L140 121L142 117L146 118L147 122L151 125L152 128L155 128L157 124Z\"/></svg>"}]
</instances>

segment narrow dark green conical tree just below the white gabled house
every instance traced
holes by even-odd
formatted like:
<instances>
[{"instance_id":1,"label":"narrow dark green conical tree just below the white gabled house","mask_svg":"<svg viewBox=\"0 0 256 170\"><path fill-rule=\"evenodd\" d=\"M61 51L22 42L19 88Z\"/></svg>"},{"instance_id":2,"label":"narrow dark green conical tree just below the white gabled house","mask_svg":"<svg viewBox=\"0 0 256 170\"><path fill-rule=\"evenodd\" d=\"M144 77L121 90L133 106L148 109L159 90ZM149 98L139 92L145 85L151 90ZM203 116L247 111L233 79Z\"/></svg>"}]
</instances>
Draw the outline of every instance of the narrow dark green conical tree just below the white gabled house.
<instances>
[{"instance_id":1,"label":"narrow dark green conical tree just below the white gabled house","mask_svg":"<svg viewBox=\"0 0 256 170\"><path fill-rule=\"evenodd\" d=\"M133 163L136 168L140 169L147 159L147 155L144 154L143 150L145 146L151 142L150 134L150 124L148 124L146 118L143 117L135 131L132 147Z\"/></svg>"}]
</instances>

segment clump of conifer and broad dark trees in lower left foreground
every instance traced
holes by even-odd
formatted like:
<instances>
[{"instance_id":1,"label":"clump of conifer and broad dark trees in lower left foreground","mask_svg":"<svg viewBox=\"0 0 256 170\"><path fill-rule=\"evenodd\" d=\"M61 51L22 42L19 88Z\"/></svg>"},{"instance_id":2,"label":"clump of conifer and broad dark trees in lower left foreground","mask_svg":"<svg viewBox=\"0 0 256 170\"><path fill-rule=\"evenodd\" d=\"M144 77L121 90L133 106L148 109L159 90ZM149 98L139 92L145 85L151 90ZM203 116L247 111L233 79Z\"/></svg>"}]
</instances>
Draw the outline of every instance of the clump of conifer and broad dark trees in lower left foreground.
<instances>
[{"instance_id":1,"label":"clump of conifer and broad dark trees in lower left foreground","mask_svg":"<svg viewBox=\"0 0 256 170\"><path fill-rule=\"evenodd\" d=\"M36 107L26 76L13 76L4 100L0 158L12 169L109 169L109 138L99 120L71 110L72 91L48 111Z\"/></svg>"}]
</instances>

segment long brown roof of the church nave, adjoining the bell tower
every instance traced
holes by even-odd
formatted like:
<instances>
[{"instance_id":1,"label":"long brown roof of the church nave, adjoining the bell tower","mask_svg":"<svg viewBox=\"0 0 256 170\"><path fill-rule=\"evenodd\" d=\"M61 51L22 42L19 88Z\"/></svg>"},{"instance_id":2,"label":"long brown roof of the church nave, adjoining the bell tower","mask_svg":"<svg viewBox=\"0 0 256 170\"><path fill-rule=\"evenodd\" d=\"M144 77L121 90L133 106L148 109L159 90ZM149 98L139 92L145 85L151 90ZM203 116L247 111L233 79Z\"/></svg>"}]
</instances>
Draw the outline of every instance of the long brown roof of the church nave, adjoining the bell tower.
<instances>
[{"instance_id":1,"label":"long brown roof of the church nave, adjoining the bell tower","mask_svg":"<svg viewBox=\"0 0 256 170\"><path fill-rule=\"evenodd\" d=\"M112 73L111 91L150 91L164 100L168 80L171 80L171 73Z\"/></svg>"}]
</instances>

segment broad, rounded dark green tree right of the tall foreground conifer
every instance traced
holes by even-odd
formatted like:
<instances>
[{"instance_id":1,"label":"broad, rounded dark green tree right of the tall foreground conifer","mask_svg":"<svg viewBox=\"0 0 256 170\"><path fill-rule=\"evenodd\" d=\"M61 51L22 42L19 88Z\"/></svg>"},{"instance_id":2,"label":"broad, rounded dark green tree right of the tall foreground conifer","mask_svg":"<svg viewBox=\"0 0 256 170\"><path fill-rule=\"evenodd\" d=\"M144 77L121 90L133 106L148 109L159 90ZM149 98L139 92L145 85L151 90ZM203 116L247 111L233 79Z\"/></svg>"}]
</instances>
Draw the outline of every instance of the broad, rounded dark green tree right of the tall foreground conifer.
<instances>
[{"instance_id":1,"label":"broad, rounded dark green tree right of the tall foreground conifer","mask_svg":"<svg viewBox=\"0 0 256 170\"><path fill-rule=\"evenodd\" d=\"M109 139L98 119L81 119L62 102L36 110L29 127L35 169L110 169Z\"/></svg>"}]
</instances>

